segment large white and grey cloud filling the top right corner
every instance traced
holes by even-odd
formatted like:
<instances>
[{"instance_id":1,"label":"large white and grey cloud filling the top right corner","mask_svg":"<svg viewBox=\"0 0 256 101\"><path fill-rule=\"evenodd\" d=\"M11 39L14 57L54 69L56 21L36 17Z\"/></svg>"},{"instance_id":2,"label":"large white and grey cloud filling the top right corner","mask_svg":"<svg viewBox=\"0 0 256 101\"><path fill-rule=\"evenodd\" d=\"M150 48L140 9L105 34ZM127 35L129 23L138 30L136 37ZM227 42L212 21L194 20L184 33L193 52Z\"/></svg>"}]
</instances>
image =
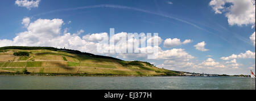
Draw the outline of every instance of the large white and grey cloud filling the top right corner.
<instances>
[{"instance_id":1,"label":"large white and grey cloud filling the top right corner","mask_svg":"<svg viewBox=\"0 0 256 101\"><path fill-rule=\"evenodd\" d=\"M255 2L252 0L212 0L209 5L216 14L225 13L231 26L255 25Z\"/></svg>"}]
</instances>

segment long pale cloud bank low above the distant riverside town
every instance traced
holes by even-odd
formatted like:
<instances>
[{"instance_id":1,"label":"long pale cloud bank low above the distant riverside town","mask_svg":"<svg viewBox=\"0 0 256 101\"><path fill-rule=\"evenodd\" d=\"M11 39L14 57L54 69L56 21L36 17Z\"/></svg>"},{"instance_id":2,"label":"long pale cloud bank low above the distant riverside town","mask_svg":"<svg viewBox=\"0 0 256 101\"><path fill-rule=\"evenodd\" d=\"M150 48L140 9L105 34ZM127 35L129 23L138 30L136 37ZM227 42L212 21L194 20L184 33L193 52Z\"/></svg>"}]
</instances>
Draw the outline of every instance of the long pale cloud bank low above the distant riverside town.
<instances>
[{"instance_id":1,"label":"long pale cloud bank low above the distant riverside town","mask_svg":"<svg viewBox=\"0 0 256 101\"><path fill-rule=\"evenodd\" d=\"M160 68L189 71L195 73L210 73L210 74L240 74L241 72L247 73L246 69L241 69L242 64L235 63L234 61L229 63L217 62L213 58L208 58L202 62L200 61L176 61L166 60L163 64L157 65ZM229 71L229 72L227 72Z\"/></svg>"}]
</instances>

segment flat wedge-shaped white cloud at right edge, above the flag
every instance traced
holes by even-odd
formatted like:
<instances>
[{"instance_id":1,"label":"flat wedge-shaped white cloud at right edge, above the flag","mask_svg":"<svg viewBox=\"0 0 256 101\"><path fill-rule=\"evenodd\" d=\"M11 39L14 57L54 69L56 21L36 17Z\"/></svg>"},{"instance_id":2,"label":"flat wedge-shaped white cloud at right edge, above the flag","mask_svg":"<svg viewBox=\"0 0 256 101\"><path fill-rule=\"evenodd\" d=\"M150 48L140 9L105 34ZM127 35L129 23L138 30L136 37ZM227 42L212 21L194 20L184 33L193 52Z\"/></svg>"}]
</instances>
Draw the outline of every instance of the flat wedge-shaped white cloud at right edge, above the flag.
<instances>
[{"instance_id":1,"label":"flat wedge-shaped white cloud at right edge, above the flag","mask_svg":"<svg viewBox=\"0 0 256 101\"><path fill-rule=\"evenodd\" d=\"M229 57L221 57L222 60L232 60L237 58L255 58L255 52L251 52L250 50L247 50L245 53L240 54L232 54L232 56Z\"/></svg>"}]
</instances>

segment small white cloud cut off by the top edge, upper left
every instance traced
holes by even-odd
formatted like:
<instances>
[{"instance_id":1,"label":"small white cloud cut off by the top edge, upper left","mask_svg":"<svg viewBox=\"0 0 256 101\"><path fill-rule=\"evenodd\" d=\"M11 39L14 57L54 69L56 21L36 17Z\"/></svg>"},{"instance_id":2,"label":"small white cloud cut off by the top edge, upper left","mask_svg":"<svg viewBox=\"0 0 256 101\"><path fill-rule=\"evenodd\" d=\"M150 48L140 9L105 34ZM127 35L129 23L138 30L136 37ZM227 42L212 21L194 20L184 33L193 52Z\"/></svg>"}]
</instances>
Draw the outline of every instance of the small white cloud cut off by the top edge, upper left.
<instances>
[{"instance_id":1,"label":"small white cloud cut off by the top edge, upper left","mask_svg":"<svg viewBox=\"0 0 256 101\"><path fill-rule=\"evenodd\" d=\"M28 10L31 10L31 8L38 7L40 0L16 0L15 4L19 7L26 7Z\"/></svg>"}]
</instances>

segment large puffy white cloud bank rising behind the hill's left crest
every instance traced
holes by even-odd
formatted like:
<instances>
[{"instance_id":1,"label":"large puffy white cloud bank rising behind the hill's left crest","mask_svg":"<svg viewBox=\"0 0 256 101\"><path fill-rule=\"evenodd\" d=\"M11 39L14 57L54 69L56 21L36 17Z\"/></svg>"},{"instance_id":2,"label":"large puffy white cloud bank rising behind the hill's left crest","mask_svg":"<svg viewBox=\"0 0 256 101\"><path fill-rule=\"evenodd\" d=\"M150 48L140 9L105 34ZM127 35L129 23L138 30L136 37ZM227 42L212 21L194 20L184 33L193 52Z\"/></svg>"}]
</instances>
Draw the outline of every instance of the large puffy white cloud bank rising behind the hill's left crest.
<instances>
[{"instance_id":1,"label":"large puffy white cloud bank rising behind the hill's left crest","mask_svg":"<svg viewBox=\"0 0 256 101\"><path fill-rule=\"evenodd\" d=\"M37 19L34 22L31 22L29 18L24 18L22 24L26 26L27 31L18 33L13 40L0 39L0 47L11 45L47 46L57 48L66 47L69 49L81 50L82 52L104 54L104 52L109 52L111 49L115 49L115 52L119 52L119 50L127 47L133 49L133 42L146 42L146 37L142 37L142 39L130 38L127 41L122 41L122 36L128 36L128 34L126 32L121 32L115 34L112 39L110 39L110 41L115 42L115 46L113 47L112 45L108 45L108 43L100 43L103 38L109 39L108 33L106 32L93 33L80 37L79 35L83 33L84 30L79 30L76 33L71 34L68 33L67 28L64 28L64 33L61 33L61 27L64 25L62 19ZM152 40L162 41L158 36L152 37L151 41ZM104 52L98 52L98 45L102 45L106 50L104 50ZM137 50L142 51L143 49L144 48L139 48Z\"/></svg>"}]
</instances>

